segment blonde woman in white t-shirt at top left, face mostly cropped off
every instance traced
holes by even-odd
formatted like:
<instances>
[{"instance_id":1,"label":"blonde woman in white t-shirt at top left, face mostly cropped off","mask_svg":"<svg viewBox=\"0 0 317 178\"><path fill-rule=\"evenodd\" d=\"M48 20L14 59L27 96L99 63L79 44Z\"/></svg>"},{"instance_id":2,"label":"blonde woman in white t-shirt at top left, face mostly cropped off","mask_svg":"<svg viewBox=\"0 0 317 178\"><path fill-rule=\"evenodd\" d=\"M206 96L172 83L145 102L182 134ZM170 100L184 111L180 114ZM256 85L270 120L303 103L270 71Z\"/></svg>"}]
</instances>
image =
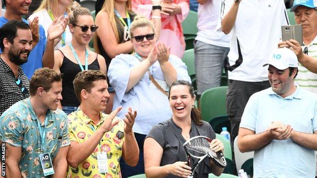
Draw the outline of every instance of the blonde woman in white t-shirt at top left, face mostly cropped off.
<instances>
[{"instance_id":1,"label":"blonde woman in white t-shirt at top left, face mostly cropped off","mask_svg":"<svg viewBox=\"0 0 317 178\"><path fill-rule=\"evenodd\" d=\"M55 18L64 16L68 17L71 12L71 4L73 0L43 0L40 7L28 17L29 20L33 21L35 17L38 17L39 24L45 29L45 35L47 37L47 29ZM59 49L72 41L72 33L69 27L62 35L55 39L54 49Z\"/></svg>"}]
</instances>

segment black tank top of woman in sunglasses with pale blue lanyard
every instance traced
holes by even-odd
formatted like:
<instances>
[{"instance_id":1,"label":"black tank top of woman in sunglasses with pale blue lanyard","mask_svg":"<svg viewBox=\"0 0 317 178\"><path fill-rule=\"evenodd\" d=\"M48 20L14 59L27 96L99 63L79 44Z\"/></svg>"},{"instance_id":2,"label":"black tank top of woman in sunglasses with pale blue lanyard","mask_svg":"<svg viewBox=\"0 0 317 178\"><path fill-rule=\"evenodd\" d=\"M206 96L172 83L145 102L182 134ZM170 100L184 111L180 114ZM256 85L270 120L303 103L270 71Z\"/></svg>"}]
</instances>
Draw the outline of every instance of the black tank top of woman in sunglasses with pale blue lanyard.
<instances>
[{"instance_id":1,"label":"black tank top of woman in sunglasses with pale blue lanyard","mask_svg":"<svg viewBox=\"0 0 317 178\"><path fill-rule=\"evenodd\" d=\"M76 107L78 107L80 105L80 102L75 95L73 81L75 79L75 76L81 72L81 69L77 63L74 63L73 61L71 61L64 54L63 54L63 56L64 56L63 62L61 63L61 66L59 69L60 73L63 74L61 76L61 78L62 78L62 91L61 91L62 100L60 102L61 102L62 106L76 106ZM84 65L83 65L83 67L85 68ZM88 69L89 70L99 70L100 69L97 57L96 57L96 60L94 60L91 64L88 65Z\"/></svg>"}]
</instances>

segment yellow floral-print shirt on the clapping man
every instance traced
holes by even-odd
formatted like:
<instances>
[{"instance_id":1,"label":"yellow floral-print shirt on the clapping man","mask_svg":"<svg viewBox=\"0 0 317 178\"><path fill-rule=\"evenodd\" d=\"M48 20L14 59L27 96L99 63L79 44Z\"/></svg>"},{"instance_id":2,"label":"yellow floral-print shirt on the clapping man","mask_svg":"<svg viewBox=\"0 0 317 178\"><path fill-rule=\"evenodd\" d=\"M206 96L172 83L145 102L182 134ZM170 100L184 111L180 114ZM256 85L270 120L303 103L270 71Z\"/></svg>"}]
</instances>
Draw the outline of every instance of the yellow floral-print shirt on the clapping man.
<instances>
[{"instance_id":1,"label":"yellow floral-print shirt on the clapping man","mask_svg":"<svg viewBox=\"0 0 317 178\"><path fill-rule=\"evenodd\" d=\"M94 130L100 128L108 116L109 115L100 113L101 119L99 123L95 125L81 110L71 113L68 115L70 141L76 141L79 144L83 143L94 133ZM104 134L100 144L97 145L96 149L94 149L93 153L87 159L77 167L69 166L67 177L121 178L119 160L122 155L124 137L119 139L116 134L118 131L123 132L123 121L120 118L117 119L120 120L119 124ZM104 153L107 152L107 173L100 173L98 170L97 154L100 151Z\"/></svg>"}]
</instances>

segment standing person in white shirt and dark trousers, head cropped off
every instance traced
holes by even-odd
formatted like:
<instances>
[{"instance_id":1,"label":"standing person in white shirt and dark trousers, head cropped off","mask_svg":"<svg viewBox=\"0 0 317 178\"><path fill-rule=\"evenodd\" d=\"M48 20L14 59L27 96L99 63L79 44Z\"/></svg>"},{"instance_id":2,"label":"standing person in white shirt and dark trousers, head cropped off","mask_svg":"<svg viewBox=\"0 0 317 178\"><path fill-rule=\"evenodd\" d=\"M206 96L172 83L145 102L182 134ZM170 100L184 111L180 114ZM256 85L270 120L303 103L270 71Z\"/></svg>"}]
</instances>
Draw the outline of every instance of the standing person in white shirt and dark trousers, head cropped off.
<instances>
[{"instance_id":1,"label":"standing person in white shirt and dark trousers, head cropped off","mask_svg":"<svg viewBox=\"0 0 317 178\"><path fill-rule=\"evenodd\" d=\"M287 24L282 0L222 0L218 29L231 32L227 111L232 148L249 97L270 87L262 65L281 38L281 26Z\"/></svg>"}]
</instances>

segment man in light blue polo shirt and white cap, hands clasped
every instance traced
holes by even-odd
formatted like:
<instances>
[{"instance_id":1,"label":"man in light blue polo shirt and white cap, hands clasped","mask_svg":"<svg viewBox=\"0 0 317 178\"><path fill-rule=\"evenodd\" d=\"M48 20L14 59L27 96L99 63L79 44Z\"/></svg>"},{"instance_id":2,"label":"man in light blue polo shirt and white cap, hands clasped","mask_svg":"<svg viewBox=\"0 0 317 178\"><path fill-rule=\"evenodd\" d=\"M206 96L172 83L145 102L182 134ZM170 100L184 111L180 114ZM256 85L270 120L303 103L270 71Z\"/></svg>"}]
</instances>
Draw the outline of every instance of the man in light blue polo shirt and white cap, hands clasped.
<instances>
[{"instance_id":1,"label":"man in light blue polo shirt and white cap, hands clasped","mask_svg":"<svg viewBox=\"0 0 317 178\"><path fill-rule=\"evenodd\" d=\"M241 118L238 147L255 151L253 177L315 177L317 95L294 84L296 54L274 50L271 87L253 94Z\"/></svg>"}]
</instances>

